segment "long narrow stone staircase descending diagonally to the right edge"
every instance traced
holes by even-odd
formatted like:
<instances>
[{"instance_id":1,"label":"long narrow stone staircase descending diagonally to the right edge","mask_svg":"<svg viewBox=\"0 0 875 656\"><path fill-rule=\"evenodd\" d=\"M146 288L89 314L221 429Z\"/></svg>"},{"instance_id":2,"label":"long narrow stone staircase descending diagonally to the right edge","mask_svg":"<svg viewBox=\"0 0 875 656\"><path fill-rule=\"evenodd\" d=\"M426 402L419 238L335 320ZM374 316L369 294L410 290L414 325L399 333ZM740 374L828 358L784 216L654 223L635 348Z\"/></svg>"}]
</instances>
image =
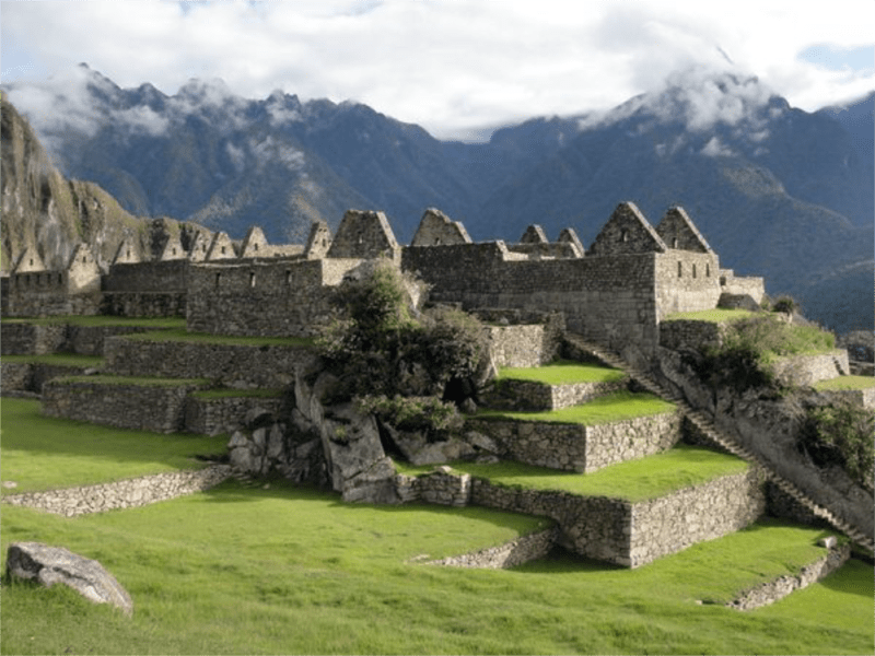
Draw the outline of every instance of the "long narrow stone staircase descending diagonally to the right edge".
<instances>
[{"instance_id":1,"label":"long narrow stone staircase descending diagonally to the right edge","mask_svg":"<svg viewBox=\"0 0 875 656\"><path fill-rule=\"evenodd\" d=\"M602 347L598 347L587 341L584 337L580 335L567 333L565 341L568 341L571 345L582 351L592 353L600 362L626 372L633 380L635 380L648 391L655 394L656 396L675 403L680 410L680 412L687 418L687 420L689 420L709 440L720 445L726 452L739 458L743 458L748 462L759 466L765 472L767 479L771 481L779 490L788 494L791 499L800 503L803 507L807 508L815 516L820 517L826 522L828 522L832 527L847 535L859 546L870 551L875 551L875 540L872 540L866 535L864 535L860 529L850 525L841 517L837 517L832 512L816 503L807 494L805 494L805 492L800 490L792 482L788 481L786 479L781 477L777 471L774 471L774 469L769 465L769 462L767 462L757 454L754 454L743 445L738 444L738 442L732 436L719 431L718 427L714 425L714 422L711 420L711 418L708 417L704 412L692 408L682 397L668 393L648 373L641 371L639 367L629 364L628 362L619 358L617 354L606 351Z\"/></svg>"}]
</instances>

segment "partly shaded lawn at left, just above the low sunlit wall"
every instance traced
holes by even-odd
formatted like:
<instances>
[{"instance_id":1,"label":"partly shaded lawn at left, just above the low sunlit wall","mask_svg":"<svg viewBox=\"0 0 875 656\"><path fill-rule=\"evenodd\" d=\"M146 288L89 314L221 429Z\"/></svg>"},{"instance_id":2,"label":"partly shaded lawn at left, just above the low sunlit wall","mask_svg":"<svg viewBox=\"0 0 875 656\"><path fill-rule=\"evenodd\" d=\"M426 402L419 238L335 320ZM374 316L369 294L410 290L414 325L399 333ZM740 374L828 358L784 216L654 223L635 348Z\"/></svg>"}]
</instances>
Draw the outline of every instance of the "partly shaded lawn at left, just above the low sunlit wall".
<instances>
[{"instance_id":1,"label":"partly shaded lawn at left, just above the low sunlit wall","mask_svg":"<svg viewBox=\"0 0 875 656\"><path fill-rule=\"evenodd\" d=\"M226 435L163 435L43 417L39 402L0 400L2 494L200 469L196 455L225 450ZM3 513L7 509L3 508Z\"/></svg>"}]
</instances>

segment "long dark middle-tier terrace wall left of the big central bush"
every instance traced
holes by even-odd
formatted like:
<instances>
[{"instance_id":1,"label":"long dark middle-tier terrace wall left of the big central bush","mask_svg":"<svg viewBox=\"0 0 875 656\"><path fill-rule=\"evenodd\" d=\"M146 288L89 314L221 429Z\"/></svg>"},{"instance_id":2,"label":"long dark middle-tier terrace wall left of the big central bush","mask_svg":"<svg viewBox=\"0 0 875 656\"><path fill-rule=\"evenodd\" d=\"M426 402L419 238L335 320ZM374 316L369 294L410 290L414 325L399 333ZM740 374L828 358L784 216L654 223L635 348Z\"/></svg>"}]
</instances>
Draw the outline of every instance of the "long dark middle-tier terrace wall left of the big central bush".
<instances>
[{"instance_id":1,"label":"long dark middle-tier terrace wall left of the big central bush","mask_svg":"<svg viewBox=\"0 0 875 656\"><path fill-rule=\"evenodd\" d=\"M294 383L295 371L313 364L306 345L243 345L110 338L107 373L121 376L209 378L225 387L280 388Z\"/></svg>"}]
</instances>

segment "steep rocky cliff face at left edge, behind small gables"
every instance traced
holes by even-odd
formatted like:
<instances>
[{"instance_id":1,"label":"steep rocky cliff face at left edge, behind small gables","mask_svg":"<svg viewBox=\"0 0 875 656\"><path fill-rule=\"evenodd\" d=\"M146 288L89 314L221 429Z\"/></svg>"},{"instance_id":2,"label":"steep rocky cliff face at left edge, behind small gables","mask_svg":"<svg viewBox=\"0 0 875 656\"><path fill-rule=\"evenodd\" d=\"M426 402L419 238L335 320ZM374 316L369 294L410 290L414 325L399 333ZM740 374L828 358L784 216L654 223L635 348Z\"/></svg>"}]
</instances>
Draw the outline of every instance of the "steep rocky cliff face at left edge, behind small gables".
<instances>
[{"instance_id":1,"label":"steep rocky cliff face at left edge, behind small gables","mask_svg":"<svg viewBox=\"0 0 875 656\"><path fill-rule=\"evenodd\" d=\"M49 269L61 269L73 248L85 242L106 269L124 239L148 256L153 244L197 227L170 219L138 219L97 185L65 178L4 97L0 97L0 189L3 273L27 247L34 247Z\"/></svg>"}]
</instances>

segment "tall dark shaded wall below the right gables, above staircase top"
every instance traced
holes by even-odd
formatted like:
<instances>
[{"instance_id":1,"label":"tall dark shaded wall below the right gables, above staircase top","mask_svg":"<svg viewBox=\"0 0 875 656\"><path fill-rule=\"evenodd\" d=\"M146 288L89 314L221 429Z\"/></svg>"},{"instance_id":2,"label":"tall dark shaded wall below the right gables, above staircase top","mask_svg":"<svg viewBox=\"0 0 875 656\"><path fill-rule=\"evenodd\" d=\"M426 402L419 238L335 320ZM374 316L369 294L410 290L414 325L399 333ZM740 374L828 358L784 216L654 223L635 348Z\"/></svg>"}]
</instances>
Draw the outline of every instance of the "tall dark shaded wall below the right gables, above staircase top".
<instances>
[{"instance_id":1,"label":"tall dark shaded wall below the right gables, above staircase top","mask_svg":"<svg viewBox=\"0 0 875 656\"><path fill-rule=\"evenodd\" d=\"M656 348L657 254L514 260L503 242L409 247L405 270L431 284L435 302L559 312L567 328L615 350ZM695 254L690 254L695 256Z\"/></svg>"}]
</instances>

